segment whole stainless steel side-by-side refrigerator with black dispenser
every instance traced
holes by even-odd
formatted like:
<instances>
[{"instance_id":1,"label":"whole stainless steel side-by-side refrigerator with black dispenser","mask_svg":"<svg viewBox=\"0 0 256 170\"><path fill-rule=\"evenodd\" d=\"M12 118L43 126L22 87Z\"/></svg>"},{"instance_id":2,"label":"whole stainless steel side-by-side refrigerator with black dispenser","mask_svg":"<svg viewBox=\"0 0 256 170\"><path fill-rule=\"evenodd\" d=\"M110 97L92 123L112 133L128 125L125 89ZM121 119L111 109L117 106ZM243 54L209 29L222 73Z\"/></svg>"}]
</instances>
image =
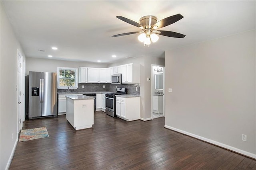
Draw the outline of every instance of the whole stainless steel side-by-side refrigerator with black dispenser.
<instances>
[{"instance_id":1,"label":"whole stainless steel side-by-side refrigerator with black dispenser","mask_svg":"<svg viewBox=\"0 0 256 170\"><path fill-rule=\"evenodd\" d=\"M29 72L28 118L57 115L57 73Z\"/></svg>"}]
</instances>

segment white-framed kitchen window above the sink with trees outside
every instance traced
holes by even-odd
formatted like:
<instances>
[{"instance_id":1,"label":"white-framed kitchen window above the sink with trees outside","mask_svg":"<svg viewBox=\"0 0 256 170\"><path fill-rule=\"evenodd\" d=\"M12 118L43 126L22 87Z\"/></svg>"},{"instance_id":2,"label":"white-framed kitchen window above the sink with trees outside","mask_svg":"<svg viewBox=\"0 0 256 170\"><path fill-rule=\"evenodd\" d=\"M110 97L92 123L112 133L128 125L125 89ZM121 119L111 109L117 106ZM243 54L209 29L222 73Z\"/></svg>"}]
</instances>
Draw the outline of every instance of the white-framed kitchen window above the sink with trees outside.
<instances>
[{"instance_id":1,"label":"white-framed kitchen window above the sink with trees outside","mask_svg":"<svg viewBox=\"0 0 256 170\"><path fill-rule=\"evenodd\" d=\"M58 67L58 89L78 88L77 72L77 68Z\"/></svg>"}]
</instances>

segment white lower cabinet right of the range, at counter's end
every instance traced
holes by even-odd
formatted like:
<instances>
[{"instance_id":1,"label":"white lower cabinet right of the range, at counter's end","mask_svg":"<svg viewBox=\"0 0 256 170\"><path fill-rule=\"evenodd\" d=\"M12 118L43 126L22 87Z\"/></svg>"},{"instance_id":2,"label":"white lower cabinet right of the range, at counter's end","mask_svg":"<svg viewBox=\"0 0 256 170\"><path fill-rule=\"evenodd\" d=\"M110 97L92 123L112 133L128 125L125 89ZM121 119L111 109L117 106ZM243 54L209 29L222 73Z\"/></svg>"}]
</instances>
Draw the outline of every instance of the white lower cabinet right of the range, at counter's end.
<instances>
[{"instance_id":1,"label":"white lower cabinet right of the range, at counter's end","mask_svg":"<svg viewBox=\"0 0 256 170\"><path fill-rule=\"evenodd\" d=\"M140 97L116 97L116 115L126 121L140 119Z\"/></svg>"}]
</instances>

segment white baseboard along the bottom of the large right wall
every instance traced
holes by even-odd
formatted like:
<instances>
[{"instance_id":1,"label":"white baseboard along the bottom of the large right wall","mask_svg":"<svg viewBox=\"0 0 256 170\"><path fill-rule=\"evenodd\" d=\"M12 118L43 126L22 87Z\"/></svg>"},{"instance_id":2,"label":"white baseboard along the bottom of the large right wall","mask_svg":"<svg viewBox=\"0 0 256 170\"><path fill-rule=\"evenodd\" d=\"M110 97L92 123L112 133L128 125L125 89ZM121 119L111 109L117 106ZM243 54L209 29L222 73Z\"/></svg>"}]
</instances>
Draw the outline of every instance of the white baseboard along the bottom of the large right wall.
<instances>
[{"instance_id":1,"label":"white baseboard along the bottom of the large right wall","mask_svg":"<svg viewBox=\"0 0 256 170\"><path fill-rule=\"evenodd\" d=\"M179 132L179 133L182 133L182 134L185 134L185 135L188 135L188 136L191 136L191 137L194 137L196 139L200 139L202 141L206 141L208 143L212 143L213 145L217 145L219 147L222 147L222 148L225 148L225 149L228 149L228 150L232 150L234 152L237 152L239 154L242 154L242 155L245 155L245 156L248 156L248 157L251 157L251 158L254 158L256 159L256 154L253 154L251 152L247 152L245 150L241 150L241 149L238 149L238 148L235 148L235 147L232 147L232 146L229 146L229 145L226 145L224 143L220 143L220 142L217 142L217 141L214 141L214 140L211 140L211 139L208 139L208 138L205 138L205 137L201 137L199 135L195 135L193 133L189 133L189 132L186 132L186 131L182 131L180 129L176 129L174 127L170 127L170 126L167 126L167 125L164 125L165 128L167 129L171 129L173 131L176 131L176 132Z\"/></svg>"}]
</instances>

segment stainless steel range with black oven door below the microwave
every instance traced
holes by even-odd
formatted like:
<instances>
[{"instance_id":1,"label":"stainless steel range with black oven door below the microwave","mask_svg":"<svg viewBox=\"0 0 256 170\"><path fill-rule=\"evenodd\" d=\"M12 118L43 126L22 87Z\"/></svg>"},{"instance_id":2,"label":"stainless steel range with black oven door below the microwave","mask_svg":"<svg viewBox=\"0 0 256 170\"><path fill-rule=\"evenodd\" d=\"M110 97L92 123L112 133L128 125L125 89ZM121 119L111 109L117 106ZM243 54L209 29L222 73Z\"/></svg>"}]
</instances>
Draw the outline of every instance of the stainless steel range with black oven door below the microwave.
<instances>
[{"instance_id":1,"label":"stainless steel range with black oven door below the microwave","mask_svg":"<svg viewBox=\"0 0 256 170\"><path fill-rule=\"evenodd\" d=\"M116 96L120 94L126 94L126 88L116 88L116 93L106 94L106 114L112 117L116 116Z\"/></svg>"}]
</instances>

